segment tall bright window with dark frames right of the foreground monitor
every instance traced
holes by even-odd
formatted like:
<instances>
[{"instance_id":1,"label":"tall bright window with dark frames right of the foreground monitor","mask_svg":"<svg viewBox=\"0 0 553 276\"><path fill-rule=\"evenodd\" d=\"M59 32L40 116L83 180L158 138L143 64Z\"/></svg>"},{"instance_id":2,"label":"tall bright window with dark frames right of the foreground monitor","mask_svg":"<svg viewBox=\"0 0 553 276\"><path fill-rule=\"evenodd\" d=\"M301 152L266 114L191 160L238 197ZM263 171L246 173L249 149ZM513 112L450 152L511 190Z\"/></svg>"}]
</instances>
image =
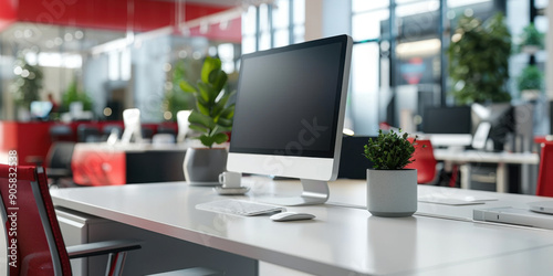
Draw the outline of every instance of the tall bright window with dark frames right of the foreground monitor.
<instances>
[{"instance_id":1,"label":"tall bright window with dark frames right of the foreground monitor","mask_svg":"<svg viewBox=\"0 0 553 276\"><path fill-rule=\"evenodd\" d=\"M543 14L549 1L534 2L536 12L532 22L545 33L549 23ZM486 20L503 11L515 38L530 22L529 3L529 0L352 0L355 44L351 97L354 100L348 114L355 132L375 135L379 123L401 126L401 110L409 110L416 117L422 115L425 106L455 105L448 94L445 51L459 17L467 14ZM510 87L514 87L513 73L520 72L529 59L528 55L511 59ZM533 59L543 68L545 51ZM377 110L375 119L371 117L373 110ZM411 130L419 127L415 125Z\"/></svg>"}]
</instances>

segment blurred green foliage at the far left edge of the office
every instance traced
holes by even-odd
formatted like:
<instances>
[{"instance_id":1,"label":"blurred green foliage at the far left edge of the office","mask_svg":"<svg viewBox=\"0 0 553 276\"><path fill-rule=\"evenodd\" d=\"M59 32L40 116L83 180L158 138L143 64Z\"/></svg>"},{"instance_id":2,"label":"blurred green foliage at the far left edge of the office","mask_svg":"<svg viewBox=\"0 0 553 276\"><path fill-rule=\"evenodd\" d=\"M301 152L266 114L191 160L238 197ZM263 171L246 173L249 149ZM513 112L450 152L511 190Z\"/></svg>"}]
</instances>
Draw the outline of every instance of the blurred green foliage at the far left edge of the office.
<instances>
[{"instance_id":1,"label":"blurred green foliage at the far left edge of the office","mask_svg":"<svg viewBox=\"0 0 553 276\"><path fill-rule=\"evenodd\" d=\"M13 99L18 106L30 108L31 102L39 100L39 89L42 88L42 71L30 65L23 59L18 60L15 67L21 68L11 86Z\"/></svg>"}]
</instances>

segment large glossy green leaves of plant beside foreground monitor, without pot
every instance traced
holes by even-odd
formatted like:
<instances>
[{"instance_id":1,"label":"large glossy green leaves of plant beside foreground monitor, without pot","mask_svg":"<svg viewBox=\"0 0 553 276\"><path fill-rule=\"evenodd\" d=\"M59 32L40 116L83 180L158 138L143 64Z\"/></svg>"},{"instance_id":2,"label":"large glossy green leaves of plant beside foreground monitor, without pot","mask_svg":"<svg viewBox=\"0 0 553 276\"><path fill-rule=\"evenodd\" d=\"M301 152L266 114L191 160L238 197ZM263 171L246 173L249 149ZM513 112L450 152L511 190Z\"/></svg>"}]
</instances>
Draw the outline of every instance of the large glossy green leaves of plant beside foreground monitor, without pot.
<instances>
[{"instance_id":1,"label":"large glossy green leaves of plant beside foreground monitor, without pot","mask_svg":"<svg viewBox=\"0 0 553 276\"><path fill-rule=\"evenodd\" d=\"M196 108L188 117L190 128L201 134L201 144L209 148L213 144L227 141L225 132L232 128L234 104L228 102L234 92L223 89L227 79L227 73L221 70L221 60L208 56L196 86L185 79L179 83L180 89L192 93L196 98Z\"/></svg>"}]
</instances>

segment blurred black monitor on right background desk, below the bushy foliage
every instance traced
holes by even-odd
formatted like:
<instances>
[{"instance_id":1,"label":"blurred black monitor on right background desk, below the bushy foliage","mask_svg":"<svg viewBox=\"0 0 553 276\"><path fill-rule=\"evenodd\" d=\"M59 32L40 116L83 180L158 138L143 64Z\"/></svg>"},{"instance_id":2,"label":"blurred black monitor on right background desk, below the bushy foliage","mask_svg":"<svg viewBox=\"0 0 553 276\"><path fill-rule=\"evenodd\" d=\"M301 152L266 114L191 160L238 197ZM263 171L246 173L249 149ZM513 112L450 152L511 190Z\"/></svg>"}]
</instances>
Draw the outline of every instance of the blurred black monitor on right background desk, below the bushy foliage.
<instances>
[{"instance_id":1,"label":"blurred black monitor on right background desk, below the bushy foliage","mask_svg":"<svg viewBox=\"0 0 553 276\"><path fill-rule=\"evenodd\" d=\"M470 106L427 107L422 115L425 134L471 134Z\"/></svg>"}]
</instances>

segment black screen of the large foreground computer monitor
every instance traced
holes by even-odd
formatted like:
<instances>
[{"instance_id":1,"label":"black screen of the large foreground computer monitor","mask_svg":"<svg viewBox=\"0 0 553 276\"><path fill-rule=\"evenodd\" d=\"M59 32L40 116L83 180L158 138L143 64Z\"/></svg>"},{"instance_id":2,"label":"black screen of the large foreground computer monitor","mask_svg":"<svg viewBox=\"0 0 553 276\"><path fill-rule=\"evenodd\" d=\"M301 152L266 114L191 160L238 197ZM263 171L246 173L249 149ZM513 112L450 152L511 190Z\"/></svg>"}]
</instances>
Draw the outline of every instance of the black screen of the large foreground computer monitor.
<instances>
[{"instance_id":1,"label":"black screen of the large foreground computer monitor","mask_svg":"<svg viewBox=\"0 0 553 276\"><path fill-rule=\"evenodd\" d=\"M333 157L346 36L242 56L230 151Z\"/></svg>"}]
</instances>

